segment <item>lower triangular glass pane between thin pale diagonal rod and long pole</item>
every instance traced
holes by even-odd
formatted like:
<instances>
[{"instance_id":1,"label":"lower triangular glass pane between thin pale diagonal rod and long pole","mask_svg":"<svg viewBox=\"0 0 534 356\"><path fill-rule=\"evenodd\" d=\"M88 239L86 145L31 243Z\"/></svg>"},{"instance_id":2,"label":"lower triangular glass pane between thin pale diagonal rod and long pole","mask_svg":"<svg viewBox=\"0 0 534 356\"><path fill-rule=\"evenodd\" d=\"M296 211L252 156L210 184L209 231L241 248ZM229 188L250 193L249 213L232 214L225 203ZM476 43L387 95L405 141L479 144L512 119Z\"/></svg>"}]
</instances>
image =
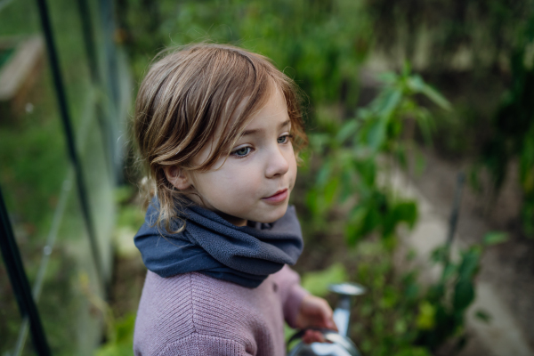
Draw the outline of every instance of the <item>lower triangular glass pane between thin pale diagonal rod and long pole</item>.
<instances>
[{"instance_id":1,"label":"lower triangular glass pane between thin pale diagonal rod and long pole","mask_svg":"<svg viewBox=\"0 0 534 356\"><path fill-rule=\"evenodd\" d=\"M65 186L68 198L37 309L54 355L92 355L101 339L102 290L76 191L69 181Z\"/></svg>"}]
</instances>

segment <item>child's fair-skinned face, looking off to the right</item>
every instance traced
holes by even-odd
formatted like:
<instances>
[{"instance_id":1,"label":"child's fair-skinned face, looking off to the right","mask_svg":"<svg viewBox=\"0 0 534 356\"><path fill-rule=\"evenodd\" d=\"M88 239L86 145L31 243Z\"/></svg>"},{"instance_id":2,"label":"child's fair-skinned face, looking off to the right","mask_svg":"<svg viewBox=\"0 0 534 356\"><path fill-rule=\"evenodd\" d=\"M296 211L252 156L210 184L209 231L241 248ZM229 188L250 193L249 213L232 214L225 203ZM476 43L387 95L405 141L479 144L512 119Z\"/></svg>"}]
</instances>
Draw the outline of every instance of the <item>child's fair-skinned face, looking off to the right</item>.
<instances>
[{"instance_id":1,"label":"child's fair-skinned face, looking off to the right","mask_svg":"<svg viewBox=\"0 0 534 356\"><path fill-rule=\"evenodd\" d=\"M286 101L277 91L245 127L230 157L219 158L206 172L182 174L182 181L177 178L177 184L173 183L178 189L192 185L201 198L194 194L190 198L230 223L272 223L286 214L295 186L296 159L290 129ZM193 163L204 162L213 144L212 139Z\"/></svg>"}]
</instances>

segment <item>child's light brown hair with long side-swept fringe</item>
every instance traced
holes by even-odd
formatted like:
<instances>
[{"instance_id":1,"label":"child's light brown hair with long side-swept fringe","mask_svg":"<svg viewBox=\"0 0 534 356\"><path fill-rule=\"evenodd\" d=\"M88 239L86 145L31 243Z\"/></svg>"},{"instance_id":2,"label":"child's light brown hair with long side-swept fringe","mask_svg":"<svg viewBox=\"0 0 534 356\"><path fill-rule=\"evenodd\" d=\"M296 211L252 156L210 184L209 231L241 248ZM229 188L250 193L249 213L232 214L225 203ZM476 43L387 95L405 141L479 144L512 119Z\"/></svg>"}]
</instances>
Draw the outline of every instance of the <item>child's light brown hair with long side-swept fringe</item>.
<instances>
[{"instance_id":1,"label":"child's light brown hair with long side-swept fringe","mask_svg":"<svg viewBox=\"0 0 534 356\"><path fill-rule=\"evenodd\" d=\"M165 223L167 231L183 192L167 181L164 168L206 171L223 155L228 157L273 88L286 100L295 154L307 144L298 87L266 57L231 45L190 44L155 60L137 94L134 140L148 186L158 197L157 223ZM239 117L230 120L244 98ZM193 166L191 158L214 137L218 125L226 134L204 163Z\"/></svg>"}]
</instances>

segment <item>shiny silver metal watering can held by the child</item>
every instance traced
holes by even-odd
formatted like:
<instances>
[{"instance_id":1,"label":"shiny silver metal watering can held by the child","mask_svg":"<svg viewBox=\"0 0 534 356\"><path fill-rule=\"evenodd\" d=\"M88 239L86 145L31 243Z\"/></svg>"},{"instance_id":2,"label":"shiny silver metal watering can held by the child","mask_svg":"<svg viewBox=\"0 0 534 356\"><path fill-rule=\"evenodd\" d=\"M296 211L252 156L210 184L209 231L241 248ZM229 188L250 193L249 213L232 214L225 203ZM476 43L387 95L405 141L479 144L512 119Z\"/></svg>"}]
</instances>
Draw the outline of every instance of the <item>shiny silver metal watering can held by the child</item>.
<instances>
[{"instance_id":1,"label":"shiny silver metal watering can held by the child","mask_svg":"<svg viewBox=\"0 0 534 356\"><path fill-rule=\"evenodd\" d=\"M349 320L351 319L351 299L356 295L362 295L366 292L365 287L357 283L339 283L330 285L328 287L331 292L334 292L339 297L336 310L334 311L334 322L339 330L336 333L333 330L317 329L324 336L327 343L312 343L304 344L300 341L290 351L287 356L361 356L356 344L347 336L349 331ZM291 336L287 345L302 338L305 329L297 332Z\"/></svg>"}]
</instances>

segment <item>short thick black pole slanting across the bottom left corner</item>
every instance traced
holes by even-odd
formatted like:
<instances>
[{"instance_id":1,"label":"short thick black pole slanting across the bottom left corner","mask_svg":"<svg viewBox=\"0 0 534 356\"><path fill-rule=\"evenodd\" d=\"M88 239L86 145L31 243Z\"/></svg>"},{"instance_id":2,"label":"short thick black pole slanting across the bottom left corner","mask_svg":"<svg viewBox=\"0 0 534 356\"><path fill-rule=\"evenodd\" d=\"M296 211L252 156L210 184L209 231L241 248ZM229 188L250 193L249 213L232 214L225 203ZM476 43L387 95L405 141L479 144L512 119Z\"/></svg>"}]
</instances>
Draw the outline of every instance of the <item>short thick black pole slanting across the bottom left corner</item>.
<instances>
[{"instance_id":1,"label":"short thick black pole slanting across the bottom left corner","mask_svg":"<svg viewBox=\"0 0 534 356\"><path fill-rule=\"evenodd\" d=\"M4 257L7 274L11 281L17 303L19 304L20 315L23 320L29 320L29 329L31 331L32 341L36 352L42 356L50 355L50 348L46 342L43 325L37 312L36 303L31 295L28 277L24 271L24 265L20 258L19 247L12 231L12 225L9 221L7 208L0 190L0 249Z\"/></svg>"}]
</instances>

